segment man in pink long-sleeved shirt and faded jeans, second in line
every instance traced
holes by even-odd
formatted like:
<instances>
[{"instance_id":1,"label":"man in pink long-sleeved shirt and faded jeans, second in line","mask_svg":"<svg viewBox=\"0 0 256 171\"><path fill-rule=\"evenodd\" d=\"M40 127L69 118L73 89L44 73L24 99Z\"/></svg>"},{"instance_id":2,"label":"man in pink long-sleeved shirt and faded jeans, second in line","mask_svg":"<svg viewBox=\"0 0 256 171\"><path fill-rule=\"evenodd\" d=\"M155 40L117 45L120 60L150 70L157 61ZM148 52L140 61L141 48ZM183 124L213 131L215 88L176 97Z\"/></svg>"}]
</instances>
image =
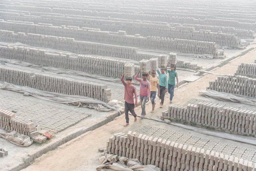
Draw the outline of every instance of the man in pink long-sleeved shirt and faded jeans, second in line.
<instances>
[{"instance_id":1,"label":"man in pink long-sleeved shirt and faded jeans, second in line","mask_svg":"<svg viewBox=\"0 0 256 171\"><path fill-rule=\"evenodd\" d=\"M134 79L140 82L140 105L141 105L141 118L144 118L146 115L146 102L149 101L150 97L150 82L147 80L148 73L142 73L142 79L138 78L138 74L140 71L137 72Z\"/></svg>"}]
</instances>

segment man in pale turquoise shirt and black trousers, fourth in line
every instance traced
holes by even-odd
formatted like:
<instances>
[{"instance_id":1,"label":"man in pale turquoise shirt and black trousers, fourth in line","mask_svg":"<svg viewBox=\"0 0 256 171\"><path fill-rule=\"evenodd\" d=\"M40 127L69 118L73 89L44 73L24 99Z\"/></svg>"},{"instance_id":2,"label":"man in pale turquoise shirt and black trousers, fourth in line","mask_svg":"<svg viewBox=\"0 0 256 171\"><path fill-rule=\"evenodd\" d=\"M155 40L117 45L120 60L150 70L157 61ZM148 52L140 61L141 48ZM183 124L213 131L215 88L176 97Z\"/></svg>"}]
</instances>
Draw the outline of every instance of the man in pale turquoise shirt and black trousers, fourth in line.
<instances>
[{"instance_id":1,"label":"man in pale turquoise shirt and black trousers, fourth in line","mask_svg":"<svg viewBox=\"0 0 256 171\"><path fill-rule=\"evenodd\" d=\"M160 96L159 98L161 99L160 102L160 108L164 107L164 95L167 93L167 88L168 88L168 77L165 73L165 67L161 66L161 72L157 70L157 73L159 75L159 92Z\"/></svg>"}]
</instances>

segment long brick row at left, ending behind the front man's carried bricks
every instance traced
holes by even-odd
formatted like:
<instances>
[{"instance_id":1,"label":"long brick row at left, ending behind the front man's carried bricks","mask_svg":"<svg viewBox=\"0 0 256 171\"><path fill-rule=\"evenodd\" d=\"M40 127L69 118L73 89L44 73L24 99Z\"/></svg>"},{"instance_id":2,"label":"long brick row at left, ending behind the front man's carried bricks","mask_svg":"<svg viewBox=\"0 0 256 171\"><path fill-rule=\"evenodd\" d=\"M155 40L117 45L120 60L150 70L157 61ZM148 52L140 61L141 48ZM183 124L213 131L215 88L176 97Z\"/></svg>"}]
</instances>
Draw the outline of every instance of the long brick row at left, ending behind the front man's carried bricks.
<instances>
[{"instance_id":1,"label":"long brick row at left, ending behind the front man's carried bricks","mask_svg":"<svg viewBox=\"0 0 256 171\"><path fill-rule=\"evenodd\" d=\"M88 55L75 56L70 53L53 53L44 49L9 45L0 46L0 56L37 65L72 69L111 77L120 77L123 74L126 63L125 60Z\"/></svg>"}]
</instances>

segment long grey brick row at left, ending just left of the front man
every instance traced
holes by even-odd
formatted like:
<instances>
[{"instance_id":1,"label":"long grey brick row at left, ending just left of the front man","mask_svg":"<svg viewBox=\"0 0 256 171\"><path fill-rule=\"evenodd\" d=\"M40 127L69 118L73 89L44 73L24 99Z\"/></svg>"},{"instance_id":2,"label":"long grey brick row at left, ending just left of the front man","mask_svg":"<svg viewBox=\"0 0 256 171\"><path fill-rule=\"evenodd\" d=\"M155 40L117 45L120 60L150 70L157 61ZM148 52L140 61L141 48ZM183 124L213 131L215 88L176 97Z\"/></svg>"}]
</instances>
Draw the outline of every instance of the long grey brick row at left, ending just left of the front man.
<instances>
[{"instance_id":1,"label":"long grey brick row at left, ending just left of the front man","mask_svg":"<svg viewBox=\"0 0 256 171\"><path fill-rule=\"evenodd\" d=\"M43 91L87 96L104 102L111 100L111 89L108 89L107 85L56 75L39 74L0 66L0 80Z\"/></svg>"}]
</instances>

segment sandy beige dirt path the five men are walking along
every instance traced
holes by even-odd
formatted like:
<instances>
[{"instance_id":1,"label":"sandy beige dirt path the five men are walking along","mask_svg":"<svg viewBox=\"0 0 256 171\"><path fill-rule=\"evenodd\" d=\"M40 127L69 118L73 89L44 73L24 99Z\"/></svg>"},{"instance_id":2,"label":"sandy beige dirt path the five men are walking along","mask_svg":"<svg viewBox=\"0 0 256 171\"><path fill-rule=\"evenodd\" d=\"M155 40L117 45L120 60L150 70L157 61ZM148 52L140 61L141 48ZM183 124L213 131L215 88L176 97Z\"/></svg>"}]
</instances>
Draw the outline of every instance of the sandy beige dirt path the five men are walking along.
<instances>
[{"instance_id":1,"label":"sandy beige dirt path the five men are walking along","mask_svg":"<svg viewBox=\"0 0 256 171\"><path fill-rule=\"evenodd\" d=\"M214 73L220 74L233 74L236 72L237 66L242 62L254 62L256 60L256 50L247 53L244 56L238 57L221 68L216 68L212 70ZM199 97L198 91L205 90L209 84L209 81L216 79L216 75L205 74L201 79L196 82L191 82L186 85L175 89L174 104L183 105L191 98ZM161 111L168 109L169 100L168 95L165 96L165 108L159 108L159 101L157 100L157 105L154 114L150 114L151 104L147 103L147 116L160 117ZM137 114L140 114L141 109L137 107L135 109ZM128 132L129 130L135 131L141 126L148 125L152 122L147 119L138 119L137 122L132 121L130 116L130 125L123 127L125 123L125 116L121 115L114 121L101 126L94 131L87 132L78 138L60 146L54 151L47 152L38 158L32 165L24 169L23 171L69 171L69 170L83 170L92 171L95 167L99 165L98 158L100 153L98 148L104 148L106 146L106 141L112 134L116 132ZM154 123L155 126L167 128L167 124L161 125L160 123ZM173 128L178 131L179 128Z\"/></svg>"}]
</instances>

